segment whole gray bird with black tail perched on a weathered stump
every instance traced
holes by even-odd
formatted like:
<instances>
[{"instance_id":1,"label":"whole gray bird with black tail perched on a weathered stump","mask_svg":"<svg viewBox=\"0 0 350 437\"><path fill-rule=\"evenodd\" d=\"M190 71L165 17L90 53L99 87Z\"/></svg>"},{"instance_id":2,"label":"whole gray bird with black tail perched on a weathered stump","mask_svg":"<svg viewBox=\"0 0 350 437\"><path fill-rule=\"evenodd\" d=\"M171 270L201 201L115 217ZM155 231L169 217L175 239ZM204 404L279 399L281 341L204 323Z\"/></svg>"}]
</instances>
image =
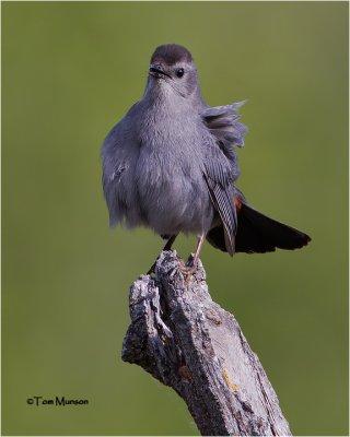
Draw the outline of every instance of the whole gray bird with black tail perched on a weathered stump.
<instances>
[{"instance_id":1,"label":"whole gray bird with black tail perched on a weathered stump","mask_svg":"<svg viewBox=\"0 0 350 437\"><path fill-rule=\"evenodd\" d=\"M164 250L180 233L196 235L195 256L184 264L188 274L206 239L230 256L306 246L308 235L254 209L236 186L244 103L209 106L190 51L156 47L142 98L102 145L109 225L151 228L166 241Z\"/></svg>"}]
</instances>

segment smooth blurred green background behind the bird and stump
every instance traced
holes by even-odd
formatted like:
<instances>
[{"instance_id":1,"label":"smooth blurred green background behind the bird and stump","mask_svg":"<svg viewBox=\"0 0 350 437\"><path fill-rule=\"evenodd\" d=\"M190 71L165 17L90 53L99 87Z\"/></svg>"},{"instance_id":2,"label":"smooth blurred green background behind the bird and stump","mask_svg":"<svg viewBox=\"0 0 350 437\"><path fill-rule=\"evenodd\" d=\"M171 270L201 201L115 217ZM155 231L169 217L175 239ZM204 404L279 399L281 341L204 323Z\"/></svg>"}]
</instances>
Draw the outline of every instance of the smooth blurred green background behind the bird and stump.
<instances>
[{"instance_id":1,"label":"smooth blurred green background behind the bird and stump","mask_svg":"<svg viewBox=\"0 0 350 437\"><path fill-rule=\"evenodd\" d=\"M198 434L184 402L120 359L151 232L108 229L100 145L143 92L155 46L197 61L209 104L248 98L240 187L313 237L230 257L207 245L294 434L348 434L348 4L2 3L2 433ZM194 238L176 249L187 256ZM33 395L88 406L26 404Z\"/></svg>"}]
</instances>

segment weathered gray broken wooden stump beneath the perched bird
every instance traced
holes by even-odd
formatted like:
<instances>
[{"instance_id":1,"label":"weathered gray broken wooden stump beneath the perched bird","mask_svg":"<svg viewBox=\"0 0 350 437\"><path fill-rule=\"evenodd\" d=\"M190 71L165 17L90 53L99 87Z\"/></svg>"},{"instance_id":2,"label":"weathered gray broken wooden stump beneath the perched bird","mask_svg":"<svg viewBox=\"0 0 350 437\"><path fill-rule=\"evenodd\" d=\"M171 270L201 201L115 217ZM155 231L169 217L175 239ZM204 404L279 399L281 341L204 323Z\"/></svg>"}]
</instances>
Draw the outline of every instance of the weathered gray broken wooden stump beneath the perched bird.
<instances>
[{"instance_id":1,"label":"weathered gray broken wooden stump beneath the perched bird","mask_svg":"<svg viewBox=\"0 0 350 437\"><path fill-rule=\"evenodd\" d=\"M230 312L209 294L205 270L185 279L175 251L130 287L122 359L172 387L202 435L291 435L266 373Z\"/></svg>"}]
</instances>

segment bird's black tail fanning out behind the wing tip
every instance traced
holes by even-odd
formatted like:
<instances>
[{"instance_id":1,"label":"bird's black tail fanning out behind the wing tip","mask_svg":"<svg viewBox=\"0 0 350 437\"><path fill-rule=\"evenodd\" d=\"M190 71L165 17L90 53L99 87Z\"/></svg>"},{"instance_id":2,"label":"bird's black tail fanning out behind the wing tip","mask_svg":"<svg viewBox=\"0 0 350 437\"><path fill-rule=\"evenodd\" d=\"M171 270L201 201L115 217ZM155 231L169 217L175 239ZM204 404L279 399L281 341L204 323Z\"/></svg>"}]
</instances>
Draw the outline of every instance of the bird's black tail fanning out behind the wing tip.
<instances>
[{"instance_id":1,"label":"bird's black tail fanning out behind the wing tip","mask_svg":"<svg viewBox=\"0 0 350 437\"><path fill-rule=\"evenodd\" d=\"M278 249L293 250L306 246L311 238L301 231L277 222L245 203L243 197L235 199L237 232L235 252L265 253ZM209 231L207 240L215 248L228 251L224 229L218 225Z\"/></svg>"}]
</instances>

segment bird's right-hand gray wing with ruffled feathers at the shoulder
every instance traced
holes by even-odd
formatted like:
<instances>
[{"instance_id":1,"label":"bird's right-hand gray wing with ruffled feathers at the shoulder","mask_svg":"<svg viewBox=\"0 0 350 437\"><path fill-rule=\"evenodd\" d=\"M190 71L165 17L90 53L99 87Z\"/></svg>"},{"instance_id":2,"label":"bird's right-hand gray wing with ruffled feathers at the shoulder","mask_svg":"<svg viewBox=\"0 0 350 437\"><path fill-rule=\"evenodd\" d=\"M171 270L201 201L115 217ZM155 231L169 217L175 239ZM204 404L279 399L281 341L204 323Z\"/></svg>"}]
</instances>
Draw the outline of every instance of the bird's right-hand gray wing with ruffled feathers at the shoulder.
<instances>
[{"instance_id":1,"label":"bird's right-hand gray wing with ruffled feathers at the shoulder","mask_svg":"<svg viewBox=\"0 0 350 437\"><path fill-rule=\"evenodd\" d=\"M206 181L215 210L224 228L228 252L235 251L237 215L234 203L234 181L240 176L236 154L233 146L243 146L246 127L241 123L237 109L244 104L206 107L201 117L215 140L206 160Z\"/></svg>"}]
</instances>

